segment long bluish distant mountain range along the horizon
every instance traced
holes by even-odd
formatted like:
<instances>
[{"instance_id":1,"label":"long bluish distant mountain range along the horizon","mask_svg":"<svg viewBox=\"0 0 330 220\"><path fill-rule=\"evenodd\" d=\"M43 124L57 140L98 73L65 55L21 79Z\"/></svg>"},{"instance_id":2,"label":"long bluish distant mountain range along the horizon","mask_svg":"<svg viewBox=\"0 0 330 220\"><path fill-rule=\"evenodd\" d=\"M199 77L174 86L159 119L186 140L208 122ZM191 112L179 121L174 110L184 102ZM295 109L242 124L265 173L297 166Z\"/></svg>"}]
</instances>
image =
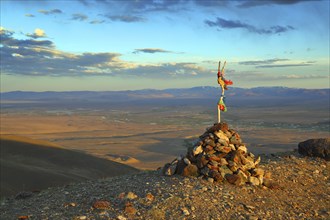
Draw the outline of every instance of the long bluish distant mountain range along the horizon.
<instances>
[{"instance_id":1,"label":"long bluish distant mountain range along the horizon","mask_svg":"<svg viewBox=\"0 0 330 220\"><path fill-rule=\"evenodd\" d=\"M68 92L25 92L1 93L1 101L35 101L43 103L111 103L111 104L207 104L214 103L221 94L220 87L193 87L183 89L144 89L127 91L68 91ZM287 87L230 87L225 92L231 105L300 105L320 104L329 106L330 89L298 89Z\"/></svg>"}]
</instances>

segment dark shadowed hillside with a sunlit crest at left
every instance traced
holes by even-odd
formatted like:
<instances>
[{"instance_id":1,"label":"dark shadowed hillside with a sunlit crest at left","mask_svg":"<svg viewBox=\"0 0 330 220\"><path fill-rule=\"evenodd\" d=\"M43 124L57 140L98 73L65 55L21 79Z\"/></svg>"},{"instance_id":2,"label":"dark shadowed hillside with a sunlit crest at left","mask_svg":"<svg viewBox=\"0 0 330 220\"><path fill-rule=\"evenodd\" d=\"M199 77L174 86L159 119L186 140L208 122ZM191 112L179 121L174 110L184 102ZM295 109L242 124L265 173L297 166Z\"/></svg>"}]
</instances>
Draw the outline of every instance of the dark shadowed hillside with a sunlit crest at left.
<instances>
[{"instance_id":1,"label":"dark shadowed hillside with a sunlit crest at left","mask_svg":"<svg viewBox=\"0 0 330 220\"><path fill-rule=\"evenodd\" d=\"M46 141L2 135L0 142L1 197L138 171Z\"/></svg>"}]
</instances>

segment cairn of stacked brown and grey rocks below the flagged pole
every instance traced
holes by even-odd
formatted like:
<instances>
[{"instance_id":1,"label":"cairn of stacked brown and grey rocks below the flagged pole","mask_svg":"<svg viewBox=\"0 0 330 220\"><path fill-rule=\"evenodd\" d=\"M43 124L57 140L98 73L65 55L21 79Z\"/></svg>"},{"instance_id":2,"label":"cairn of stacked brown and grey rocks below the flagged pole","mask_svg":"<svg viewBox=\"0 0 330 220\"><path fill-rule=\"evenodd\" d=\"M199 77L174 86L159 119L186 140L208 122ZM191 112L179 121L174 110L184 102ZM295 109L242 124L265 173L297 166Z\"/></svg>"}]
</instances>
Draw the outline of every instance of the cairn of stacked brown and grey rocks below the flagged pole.
<instances>
[{"instance_id":1,"label":"cairn of stacked brown and grey rocks below the flagged pole","mask_svg":"<svg viewBox=\"0 0 330 220\"><path fill-rule=\"evenodd\" d=\"M180 156L163 168L163 174L171 176L203 176L208 181L228 181L235 185L261 185L264 170L258 168L260 157L247 151L240 135L228 124L218 123L208 128L190 148L186 156Z\"/></svg>"}]
</instances>

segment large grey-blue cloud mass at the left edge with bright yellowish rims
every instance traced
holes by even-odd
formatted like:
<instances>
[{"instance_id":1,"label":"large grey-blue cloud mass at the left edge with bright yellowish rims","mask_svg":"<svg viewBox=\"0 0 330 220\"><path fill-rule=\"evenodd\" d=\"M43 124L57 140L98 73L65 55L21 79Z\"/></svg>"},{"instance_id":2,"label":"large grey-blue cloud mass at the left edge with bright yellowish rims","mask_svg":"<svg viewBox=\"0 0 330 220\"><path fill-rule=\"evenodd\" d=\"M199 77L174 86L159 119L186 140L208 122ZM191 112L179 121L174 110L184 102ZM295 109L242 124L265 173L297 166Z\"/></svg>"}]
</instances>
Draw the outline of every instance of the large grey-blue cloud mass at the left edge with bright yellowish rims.
<instances>
[{"instance_id":1,"label":"large grey-blue cloud mass at the left edge with bright yellowish rims","mask_svg":"<svg viewBox=\"0 0 330 220\"><path fill-rule=\"evenodd\" d=\"M117 53L72 54L59 51L51 41L21 40L14 32L0 31L2 41L1 67L4 73L19 75L80 75L95 68L117 63Z\"/></svg>"}]
</instances>

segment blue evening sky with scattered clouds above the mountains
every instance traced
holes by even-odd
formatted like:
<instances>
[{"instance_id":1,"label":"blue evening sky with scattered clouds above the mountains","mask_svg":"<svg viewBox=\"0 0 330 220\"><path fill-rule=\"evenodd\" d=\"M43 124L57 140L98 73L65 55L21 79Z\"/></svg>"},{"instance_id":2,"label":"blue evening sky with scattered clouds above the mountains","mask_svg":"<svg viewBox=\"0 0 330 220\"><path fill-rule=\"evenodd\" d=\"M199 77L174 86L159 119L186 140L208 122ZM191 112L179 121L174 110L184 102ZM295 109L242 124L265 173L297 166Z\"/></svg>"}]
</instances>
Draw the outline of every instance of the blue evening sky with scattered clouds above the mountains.
<instances>
[{"instance_id":1,"label":"blue evening sky with scattered clouds above the mountains","mask_svg":"<svg viewBox=\"0 0 330 220\"><path fill-rule=\"evenodd\" d=\"M1 0L1 92L329 88L328 0Z\"/></svg>"}]
</instances>

